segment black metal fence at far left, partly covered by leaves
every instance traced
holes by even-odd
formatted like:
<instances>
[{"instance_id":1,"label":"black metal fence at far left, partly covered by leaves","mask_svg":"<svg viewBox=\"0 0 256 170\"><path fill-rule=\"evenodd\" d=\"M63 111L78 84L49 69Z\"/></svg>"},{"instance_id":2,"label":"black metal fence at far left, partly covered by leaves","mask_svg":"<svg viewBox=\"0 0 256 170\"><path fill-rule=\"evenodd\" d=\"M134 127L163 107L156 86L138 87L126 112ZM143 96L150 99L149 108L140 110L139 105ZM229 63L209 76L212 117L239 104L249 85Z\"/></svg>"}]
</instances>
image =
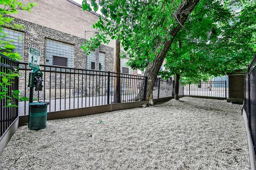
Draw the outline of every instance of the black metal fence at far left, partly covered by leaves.
<instances>
[{"instance_id":1,"label":"black metal fence at far left, partly covered by leaves","mask_svg":"<svg viewBox=\"0 0 256 170\"><path fill-rule=\"evenodd\" d=\"M18 62L14 62L4 55L0 54L0 83L4 84L3 77L5 73L12 74L18 69ZM3 88L7 88L7 96L11 97L12 91L18 90L18 77L11 79L9 85L0 88L0 92L2 94L5 93ZM7 107L9 101L11 99L11 103L18 106L18 99L4 97L0 100L0 137L4 134L4 132L9 128L9 126L13 123L13 121L18 117L18 107Z\"/></svg>"}]
</instances>

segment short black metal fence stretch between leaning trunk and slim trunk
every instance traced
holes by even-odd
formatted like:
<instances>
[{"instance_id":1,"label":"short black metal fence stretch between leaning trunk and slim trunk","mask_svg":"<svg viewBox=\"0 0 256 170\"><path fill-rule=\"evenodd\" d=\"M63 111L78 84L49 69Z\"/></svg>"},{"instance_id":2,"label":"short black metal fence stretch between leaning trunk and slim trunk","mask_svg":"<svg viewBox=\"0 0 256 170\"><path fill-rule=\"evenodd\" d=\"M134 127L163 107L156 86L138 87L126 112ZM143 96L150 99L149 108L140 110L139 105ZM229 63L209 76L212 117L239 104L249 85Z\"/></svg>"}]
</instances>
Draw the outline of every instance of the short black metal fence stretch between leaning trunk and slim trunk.
<instances>
[{"instance_id":1,"label":"short black metal fence stretch between leaning trunk and slim trunk","mask_svg":"<svg viewBox=\"0 0 256 170\"><path fill-rule=\"evenodd\" d=\"M174 84L174 80L157 78L153 89L153 99L174 96ZM181 83L179 84L179 95L183 95L183 87Z\"/></svg>"}]
</instances>

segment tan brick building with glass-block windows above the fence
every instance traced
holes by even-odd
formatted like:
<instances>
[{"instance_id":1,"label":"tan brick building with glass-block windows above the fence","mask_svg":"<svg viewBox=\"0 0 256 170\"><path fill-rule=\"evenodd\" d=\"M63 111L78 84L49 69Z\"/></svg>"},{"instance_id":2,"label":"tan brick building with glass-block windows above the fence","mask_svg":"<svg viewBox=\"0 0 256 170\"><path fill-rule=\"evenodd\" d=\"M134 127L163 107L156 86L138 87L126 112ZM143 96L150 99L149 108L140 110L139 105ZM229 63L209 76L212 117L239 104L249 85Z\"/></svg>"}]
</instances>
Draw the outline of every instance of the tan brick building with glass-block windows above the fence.
<instances>
[{"instance_id":1,"label":"tan brick building with glass-block windows above the fence","mask_svg":"<svg viewBox=\"0 0 256 170\"><path fill-rule=\"evenodd\" d=\"M85 39L95 33L92 25L99 14L83 11L82 6L71 0L21 0L22 3L36 2L31 12L13 14L14 23L25 25L24 30L4 29L7 39L14 40L15 52L28 62L29 47L41 51L41 64L74 67L78 69L114 71L115 41L86 56L81 49ZM19 40L20 39L20 40ZM137 74L121 60L121 72Z\"/></svg>"}]
</instances>

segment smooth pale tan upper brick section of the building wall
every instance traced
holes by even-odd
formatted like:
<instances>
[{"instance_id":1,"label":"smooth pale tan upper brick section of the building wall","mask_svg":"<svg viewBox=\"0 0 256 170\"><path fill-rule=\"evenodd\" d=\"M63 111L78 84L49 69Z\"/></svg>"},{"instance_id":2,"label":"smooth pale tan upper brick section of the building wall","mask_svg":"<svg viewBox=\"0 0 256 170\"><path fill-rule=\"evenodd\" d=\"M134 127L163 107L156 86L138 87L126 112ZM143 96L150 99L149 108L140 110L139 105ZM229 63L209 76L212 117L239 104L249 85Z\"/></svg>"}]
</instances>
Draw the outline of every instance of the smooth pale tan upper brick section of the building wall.
<instances>
[{"instance_id":1,"label":"smooth pale tan upper brick section of the building wall","mask_svg":"<svg viewBox=\"0 0 256 170\"><path fill-rule=\"evenodd\" d=\"M20 11L13 14L15 18L33 22L47 28L65 32L79 38L89 39L96 31L92 25L99 20L99 15L94 12L83 11L79 4L71 0L20 0L23 4L35 2L37 5L31 12ZM115 41L110 40L107 45L114 48Z\"/></svg>"}]
</instances>

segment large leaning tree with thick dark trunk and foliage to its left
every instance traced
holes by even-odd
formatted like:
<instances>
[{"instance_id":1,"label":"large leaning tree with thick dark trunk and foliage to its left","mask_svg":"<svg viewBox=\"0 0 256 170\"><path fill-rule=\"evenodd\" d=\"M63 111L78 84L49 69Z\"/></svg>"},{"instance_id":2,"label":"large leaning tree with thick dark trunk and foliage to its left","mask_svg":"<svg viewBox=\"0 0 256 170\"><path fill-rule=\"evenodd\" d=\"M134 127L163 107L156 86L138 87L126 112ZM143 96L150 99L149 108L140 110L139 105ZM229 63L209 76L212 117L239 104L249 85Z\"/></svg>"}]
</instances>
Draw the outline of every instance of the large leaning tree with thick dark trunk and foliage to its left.
<instances>
[{"instance_id":1,"label":"large leaning tree with thick dark trunk and foliage to its left","mask_svg":"<svg viewBox=\"0 0 256 170\"><path fill-rule=\"evenodd\" d=\"M146 67L146 99L152 103L154 83L164 58L198 2L199 0L84 0L83 10L90 11L92 6L96 12L100 6L105 18L100 17L99 22L93 25L100 33L87 41L83 49L89 53L102 42L105 43L107 36L113 39L118 37L126 53L135 61L135 65L142 69Z\"/></svg>"}]
</instances>

